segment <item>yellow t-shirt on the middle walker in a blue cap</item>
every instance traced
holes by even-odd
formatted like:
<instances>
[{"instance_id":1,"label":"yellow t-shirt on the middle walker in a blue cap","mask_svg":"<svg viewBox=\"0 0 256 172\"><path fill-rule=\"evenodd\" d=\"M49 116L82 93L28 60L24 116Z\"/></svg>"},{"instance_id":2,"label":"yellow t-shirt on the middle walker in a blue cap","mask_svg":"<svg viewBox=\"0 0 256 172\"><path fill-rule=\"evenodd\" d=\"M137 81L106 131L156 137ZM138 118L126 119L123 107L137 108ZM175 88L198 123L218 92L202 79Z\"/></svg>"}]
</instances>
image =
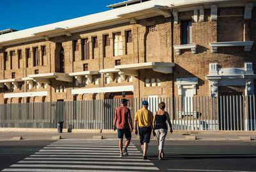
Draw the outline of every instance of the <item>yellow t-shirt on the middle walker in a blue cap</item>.
<instances>
[{"instance_id":1,"label":"yellow t-shirt on the middle walker in a blue cap","mask_svg":"<svg viewBox=\"0 0 256 172\"><path fill-rule=\"evenodd\" d=\"M153 113L145 107L140 109L135 116L135 121L138 121L139 127L149 127L153 123Z\"/></svg>"}]
</instances>

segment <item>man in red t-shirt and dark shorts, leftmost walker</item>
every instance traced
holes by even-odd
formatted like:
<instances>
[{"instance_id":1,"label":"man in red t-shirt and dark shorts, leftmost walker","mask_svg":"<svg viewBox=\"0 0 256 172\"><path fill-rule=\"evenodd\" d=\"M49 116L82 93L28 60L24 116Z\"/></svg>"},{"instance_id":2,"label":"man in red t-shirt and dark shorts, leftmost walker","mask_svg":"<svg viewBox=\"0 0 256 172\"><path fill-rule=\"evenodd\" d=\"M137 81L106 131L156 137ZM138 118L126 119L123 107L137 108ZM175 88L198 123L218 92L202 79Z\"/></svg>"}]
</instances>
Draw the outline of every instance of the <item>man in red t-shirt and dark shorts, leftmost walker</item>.
<instances>
[{"instance_id":1,"label":"man in red t-shirt and dark shorts, leftmost walker","mask_svg":"<svg viewBox=\"0 0 256 172\"><path fill-rule=\"evenodd\" d=\"M122 98L121 100L121 107L116 109L115 113L115 120L113 130L116 130L116 122L117 122L117 131L118 131L118 138L119 138L119 149L120 149L120 157L128 156L127 147L131 142L131 132L133 130L132 127L132 118L131 118L131 111L127 106L127 99ZM125 141L125 148L123 150L123 139L124 135L126 138ZM123 155L124 153L124 155Z\"/></svg>"}]
</instances>

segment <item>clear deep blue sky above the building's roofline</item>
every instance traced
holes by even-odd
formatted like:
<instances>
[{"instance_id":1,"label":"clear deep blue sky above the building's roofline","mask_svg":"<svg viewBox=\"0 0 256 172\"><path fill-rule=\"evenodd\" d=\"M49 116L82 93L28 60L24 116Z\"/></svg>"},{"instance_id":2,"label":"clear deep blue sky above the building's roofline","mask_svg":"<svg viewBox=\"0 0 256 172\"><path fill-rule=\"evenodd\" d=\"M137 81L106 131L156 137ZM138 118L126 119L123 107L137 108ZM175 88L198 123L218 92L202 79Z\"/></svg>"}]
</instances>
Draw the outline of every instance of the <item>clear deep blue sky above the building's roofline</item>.
<instances>
[{"instance_id":1,"label":"clear deep blue sky above the building's roofline","mask_svg":"<svg viewBox=\"0 0 256 172\"><path fill-rule=\"evenodd\" d=\"M0 31L28 29L111 10L125 0L0 0Z\"/></svg>"}]
</instances>

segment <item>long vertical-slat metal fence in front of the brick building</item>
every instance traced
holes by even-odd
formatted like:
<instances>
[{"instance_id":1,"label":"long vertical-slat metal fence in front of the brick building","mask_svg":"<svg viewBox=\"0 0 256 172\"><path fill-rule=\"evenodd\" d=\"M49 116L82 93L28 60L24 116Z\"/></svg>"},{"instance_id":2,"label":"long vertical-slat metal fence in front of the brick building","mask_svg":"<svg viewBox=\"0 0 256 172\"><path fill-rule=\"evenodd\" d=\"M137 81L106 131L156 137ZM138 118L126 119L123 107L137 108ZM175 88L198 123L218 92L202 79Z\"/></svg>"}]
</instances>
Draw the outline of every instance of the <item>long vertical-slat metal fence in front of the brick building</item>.
<instances>
[{"instance_id":1,"label":"long vertical-slat metal fence in front of the brick building","mask_svg":"<svg viewBox=\"0 0 256 172\"><path fill-rule=\"evenodd\" d=\"M147 99L150 111L166 103L175 130L255 130L255 96L130 98L132 119ZM120 99L1 104L0 127L112 129Z\"/></svg>"}]
</instances>

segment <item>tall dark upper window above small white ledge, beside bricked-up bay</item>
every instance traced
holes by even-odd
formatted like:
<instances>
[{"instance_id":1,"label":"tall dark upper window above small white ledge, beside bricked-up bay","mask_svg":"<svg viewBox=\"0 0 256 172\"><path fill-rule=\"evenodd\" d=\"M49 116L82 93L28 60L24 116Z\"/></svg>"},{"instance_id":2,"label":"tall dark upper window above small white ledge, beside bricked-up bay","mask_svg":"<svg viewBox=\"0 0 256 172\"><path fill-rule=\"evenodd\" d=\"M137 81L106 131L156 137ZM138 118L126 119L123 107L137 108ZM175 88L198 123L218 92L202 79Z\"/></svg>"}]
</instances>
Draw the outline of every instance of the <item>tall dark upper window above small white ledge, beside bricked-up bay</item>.
<instances>
[{"instance_id":1,"label":"tall dark upper window above small white ledge, beside bricked-up bay","mask_svg":"<svg viewBox=\"0 0 256 172\"><path fill-rule=\"evenodd\" d=\"M192 43L192 22L191 20L183 20L181 22L182 44Z\"/></svg>"}]
</instances>

